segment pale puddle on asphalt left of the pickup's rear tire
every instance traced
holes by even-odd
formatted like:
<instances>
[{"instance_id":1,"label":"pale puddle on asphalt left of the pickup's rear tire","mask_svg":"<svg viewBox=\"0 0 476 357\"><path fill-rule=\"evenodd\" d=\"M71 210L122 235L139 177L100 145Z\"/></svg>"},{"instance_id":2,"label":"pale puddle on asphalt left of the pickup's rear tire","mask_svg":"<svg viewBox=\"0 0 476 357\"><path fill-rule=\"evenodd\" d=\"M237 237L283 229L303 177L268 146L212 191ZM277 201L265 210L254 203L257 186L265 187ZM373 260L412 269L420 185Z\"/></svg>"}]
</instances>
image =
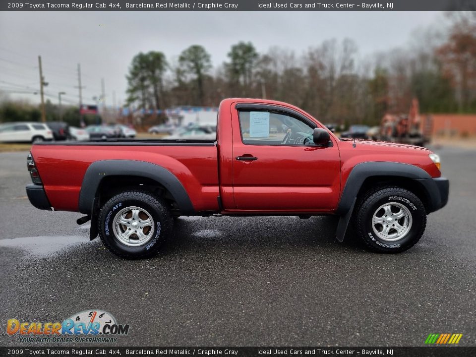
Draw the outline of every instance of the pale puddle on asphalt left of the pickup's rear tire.
<instances>
[{"instance_id":1,"label":"pale puddle on asphalt left of the pickup's rear tire","mask_svg":"<svg viewBox=\"0 0 476 357\"><path fill-rule=\"evenodd\" d=\"M66 237L22 237L0 239L0 247L19 248L29 253L29 257L43 258L65 251L71 247L90 244L85 236Z\"/></svg>"}]
</instances>

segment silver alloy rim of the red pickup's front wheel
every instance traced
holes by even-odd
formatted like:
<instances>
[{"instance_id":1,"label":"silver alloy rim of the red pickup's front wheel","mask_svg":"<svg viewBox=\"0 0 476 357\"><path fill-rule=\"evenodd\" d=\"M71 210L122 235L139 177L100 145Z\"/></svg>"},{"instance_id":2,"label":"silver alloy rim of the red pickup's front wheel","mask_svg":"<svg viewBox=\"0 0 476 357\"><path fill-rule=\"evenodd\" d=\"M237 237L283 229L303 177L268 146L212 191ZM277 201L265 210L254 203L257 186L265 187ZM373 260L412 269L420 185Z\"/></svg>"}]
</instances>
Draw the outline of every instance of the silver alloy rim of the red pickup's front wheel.
<instances>
[{"instance_id":1,"label":"silver alloy rim of the red pickup's front wheel","mask_svg":"<svg viewBox=\"0 0 476 357\"><path fill-rule=\"evenodd\" d=\"M401 203L385 203L373 214L372 228L375 235L382 240L402 239L412 228L412 214Z\"/></svg>"}]
</instances>

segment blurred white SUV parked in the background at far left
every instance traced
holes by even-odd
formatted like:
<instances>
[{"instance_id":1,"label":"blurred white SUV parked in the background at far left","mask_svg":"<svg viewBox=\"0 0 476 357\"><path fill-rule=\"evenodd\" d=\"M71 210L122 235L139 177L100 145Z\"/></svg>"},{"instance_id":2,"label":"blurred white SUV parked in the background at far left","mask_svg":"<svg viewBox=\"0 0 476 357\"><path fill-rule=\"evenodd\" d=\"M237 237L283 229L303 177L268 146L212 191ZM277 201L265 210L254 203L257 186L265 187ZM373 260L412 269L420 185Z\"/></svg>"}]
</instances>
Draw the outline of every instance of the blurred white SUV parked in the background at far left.
<instances>
[{"instance_id":1,"label":"blurred white SUV parked in the background at far left","mask_svg":"<svg viewBox=\"0 0 476 357\"><path fill-rule=\"evenodd\" d=\"M44 123L14 122L0 125L0 142L38 142L53 140L53 132Z\"/></svg>"}]
</instances>

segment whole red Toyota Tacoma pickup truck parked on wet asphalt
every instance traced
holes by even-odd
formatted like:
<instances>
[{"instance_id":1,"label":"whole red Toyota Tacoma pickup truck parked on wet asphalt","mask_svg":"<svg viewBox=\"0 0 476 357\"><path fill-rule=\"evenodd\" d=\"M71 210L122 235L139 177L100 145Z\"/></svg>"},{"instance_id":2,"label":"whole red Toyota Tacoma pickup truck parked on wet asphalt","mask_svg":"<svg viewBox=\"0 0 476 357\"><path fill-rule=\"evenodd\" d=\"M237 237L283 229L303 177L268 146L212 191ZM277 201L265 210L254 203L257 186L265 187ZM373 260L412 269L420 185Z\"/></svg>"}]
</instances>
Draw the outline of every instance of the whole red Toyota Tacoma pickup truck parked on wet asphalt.
<instances>
[{"instance_id":1,"label":"whole red Toyota Tacoma pickup truck parked on wet asphalt","mask_svg":"<svg viewBox=\"0 0 476 357\"><path fill-rule=\"evenodd\" d=\"M226 99L216 140L35 143L28 156L39 209L85 214L122 257L158 252L179 216L340 217L353 235L394 253L423 235L426 215L448 201L438 155L410 145L335 136L292 105Z\"/></svg>"}]
</instances>

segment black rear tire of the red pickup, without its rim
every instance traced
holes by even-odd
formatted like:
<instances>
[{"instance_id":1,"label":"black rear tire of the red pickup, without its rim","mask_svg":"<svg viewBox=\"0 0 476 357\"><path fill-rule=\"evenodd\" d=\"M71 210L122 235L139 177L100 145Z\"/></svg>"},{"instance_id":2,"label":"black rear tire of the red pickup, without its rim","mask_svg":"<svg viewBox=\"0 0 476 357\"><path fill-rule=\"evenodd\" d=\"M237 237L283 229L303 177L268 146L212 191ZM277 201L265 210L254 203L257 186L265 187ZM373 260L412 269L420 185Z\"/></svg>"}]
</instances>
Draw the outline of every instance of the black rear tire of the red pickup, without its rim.
<instances>
[{"instance_id":1,"label":"black rear tire of the red pickup, without its rim","mask_svg":"<svg viewBox=\"0 0 476 357\"><path fill-rule=\"evenodd\" d=\"M139 246L128 246L116 236L114 220L122 208L139 207L146 210L153 220L152 237ZM172 232L173 219L167 204L159 197L145 191L125 191L107 201L99 213L99 237L112 253L127 259L153 256Z\"/></svg>"}]
</instances>

